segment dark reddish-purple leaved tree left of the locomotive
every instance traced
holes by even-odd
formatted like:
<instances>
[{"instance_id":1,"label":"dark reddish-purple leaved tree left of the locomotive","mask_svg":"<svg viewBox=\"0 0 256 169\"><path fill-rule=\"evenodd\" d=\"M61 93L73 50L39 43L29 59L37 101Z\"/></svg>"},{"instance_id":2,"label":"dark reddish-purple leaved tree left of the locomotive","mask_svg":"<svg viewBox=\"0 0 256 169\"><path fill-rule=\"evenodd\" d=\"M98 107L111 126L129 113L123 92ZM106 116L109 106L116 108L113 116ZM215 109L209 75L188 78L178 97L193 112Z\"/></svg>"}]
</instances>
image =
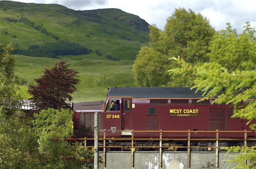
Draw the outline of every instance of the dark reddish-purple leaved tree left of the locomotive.
<instances>
[{"instance_id":1,"label":"dark reddish-purple leaved tree left of the locomotive","mask_svg":"<svg viewBox=\"0 0 256 169\"><path fill-rule=\"evenodd\" d=\"M71 101L70 94L77 91L76 85L81 81L76 79L79 72L68 69L65 63L66 61L62 60L52 69L45 69L41 78L34 79L37 85L29 86L28 92L33 95L32 100L39 110L65 108L68 106L65 101Z\"/></svg>"}]
</instances>

